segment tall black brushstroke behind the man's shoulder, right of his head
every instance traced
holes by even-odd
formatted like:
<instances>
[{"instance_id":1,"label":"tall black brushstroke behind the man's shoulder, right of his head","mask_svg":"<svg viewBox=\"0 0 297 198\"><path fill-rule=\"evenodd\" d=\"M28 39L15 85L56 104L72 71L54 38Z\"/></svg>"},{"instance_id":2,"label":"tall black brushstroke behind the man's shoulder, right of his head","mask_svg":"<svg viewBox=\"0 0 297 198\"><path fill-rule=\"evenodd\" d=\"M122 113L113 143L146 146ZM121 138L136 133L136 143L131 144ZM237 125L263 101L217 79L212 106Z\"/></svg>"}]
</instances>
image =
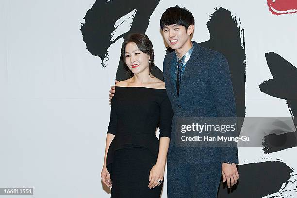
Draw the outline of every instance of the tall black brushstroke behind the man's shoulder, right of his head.
<instances>
[{"instance_id":1,"label":"tall black brushstroke behind the man's shoulder, right of his head","mask_svg":"<svg viewBox=\"0 0 297 198\"><path fill-rule=\"evenodd\" d=\"M237 117L245 117L245 43L240 38L240 28L236 18L224 8L216 9L207 22L210 39L200 43L201 46L221 52L226 57L234 89ZM238 124L241 129L242 123Z\"/></svg>"}]
</instances>

